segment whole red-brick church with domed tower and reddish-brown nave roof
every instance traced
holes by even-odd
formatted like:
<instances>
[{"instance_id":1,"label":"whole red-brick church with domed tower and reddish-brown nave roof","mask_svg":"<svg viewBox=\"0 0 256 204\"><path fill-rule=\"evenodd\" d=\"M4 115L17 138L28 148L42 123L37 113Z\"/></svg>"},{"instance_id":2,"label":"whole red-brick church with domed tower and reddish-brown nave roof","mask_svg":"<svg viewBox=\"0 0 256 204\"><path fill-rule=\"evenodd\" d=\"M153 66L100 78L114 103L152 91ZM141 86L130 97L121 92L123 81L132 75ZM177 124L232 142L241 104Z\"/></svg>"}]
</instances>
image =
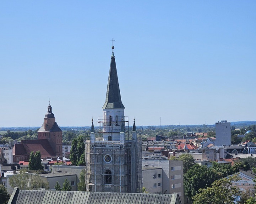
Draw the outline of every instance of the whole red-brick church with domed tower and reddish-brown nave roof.
<instances>
[{"instance_id":1,"label":"whole red-brick church with domed tower and reddish-brown nave roof","mask_svg":"<svg viewBox=\"0 0 256 204\"><path fill-rule=\"evenodd\" d=\"M62 157L62 130L55 121L50 104L44 123L38 130L38 140L22 140L20 144L15 144L12 152L13 161L28 160L30 153L38 150L42 159Z\"/></svg>"}]
</instances>

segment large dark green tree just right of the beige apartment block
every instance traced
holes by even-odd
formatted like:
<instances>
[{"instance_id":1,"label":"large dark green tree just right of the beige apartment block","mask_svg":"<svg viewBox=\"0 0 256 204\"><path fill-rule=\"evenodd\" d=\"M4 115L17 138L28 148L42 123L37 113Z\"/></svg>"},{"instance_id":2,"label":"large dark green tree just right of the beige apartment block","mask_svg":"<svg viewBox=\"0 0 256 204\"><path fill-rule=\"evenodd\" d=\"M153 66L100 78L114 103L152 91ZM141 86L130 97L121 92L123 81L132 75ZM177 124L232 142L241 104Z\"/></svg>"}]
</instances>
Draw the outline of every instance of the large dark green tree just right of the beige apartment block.
<instances>
[{"instance_id":1,"label":"large dark green tree just right of the beige apartment block","mask_svg":"<svg viewBox=\"0 0 256 204\"><path fill-rule=\"evenodd\" d=\"M187 173L184 174L184 190L185 194L192 198L200 188L209 187L215 180L221 179L222 174L215 169L207 168L207 166L199 166L194 164Z\"/></svg>"}]
</instances>

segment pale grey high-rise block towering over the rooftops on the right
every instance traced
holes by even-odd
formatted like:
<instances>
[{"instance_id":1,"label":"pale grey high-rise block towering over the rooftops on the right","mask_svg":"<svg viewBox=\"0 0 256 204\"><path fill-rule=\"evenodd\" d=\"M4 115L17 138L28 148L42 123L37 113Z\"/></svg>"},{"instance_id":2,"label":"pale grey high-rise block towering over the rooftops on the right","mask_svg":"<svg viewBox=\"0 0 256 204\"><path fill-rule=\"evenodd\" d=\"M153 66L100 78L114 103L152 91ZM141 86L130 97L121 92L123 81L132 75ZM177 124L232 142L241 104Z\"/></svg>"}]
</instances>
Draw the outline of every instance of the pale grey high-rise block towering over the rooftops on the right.
<instances>
[{"instance_id":1,"label":"pale grey high-rise block towering over the rooftops on the right","mask_svg":"<svg viewBox=\"0 0 256 204\"><path fill-rule=\"evenodd\" d=\"M226 120L215 123L216 142L215 146L231 145L231 126Z\"/></svg>"}]
</instances>

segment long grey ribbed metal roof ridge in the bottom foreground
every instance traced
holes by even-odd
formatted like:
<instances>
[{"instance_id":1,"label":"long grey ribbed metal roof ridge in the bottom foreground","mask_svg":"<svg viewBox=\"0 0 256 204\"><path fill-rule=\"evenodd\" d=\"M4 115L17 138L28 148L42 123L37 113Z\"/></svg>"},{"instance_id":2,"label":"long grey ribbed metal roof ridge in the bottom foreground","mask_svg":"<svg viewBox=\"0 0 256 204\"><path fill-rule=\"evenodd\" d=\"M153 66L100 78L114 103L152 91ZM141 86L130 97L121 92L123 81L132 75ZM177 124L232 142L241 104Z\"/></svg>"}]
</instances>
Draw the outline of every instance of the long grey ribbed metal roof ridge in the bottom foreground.
<instances>
[{"instance_id":1,"label":"long grey ribbed metal roof ridge in the bottom foreground","mask_svg":"<svg viewBox=\"0 0 256 204\"><path fill-rule=\"evenodd\" d=\"M180 204L178 193L31 191L14 188L9 204Z\"/></svg>"}]
</instances>

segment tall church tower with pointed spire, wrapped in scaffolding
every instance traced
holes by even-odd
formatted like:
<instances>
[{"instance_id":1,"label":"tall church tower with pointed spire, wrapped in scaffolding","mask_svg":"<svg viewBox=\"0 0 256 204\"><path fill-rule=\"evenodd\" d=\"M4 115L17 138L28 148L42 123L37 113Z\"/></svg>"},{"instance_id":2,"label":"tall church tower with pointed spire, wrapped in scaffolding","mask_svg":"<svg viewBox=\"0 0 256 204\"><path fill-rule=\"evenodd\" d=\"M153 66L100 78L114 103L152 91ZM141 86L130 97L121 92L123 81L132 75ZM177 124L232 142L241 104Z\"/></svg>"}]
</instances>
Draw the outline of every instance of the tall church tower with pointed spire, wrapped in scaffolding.
<instances>
[{"instance_id":1,"label":"tall church tower with pointed spire, wrapped in scaffolding","mask_svg":"<svg viewBox=\"0 0 256 204\"><path fill-rule=\"evenodd\" d=\"M135 120L129 135L113 50L114 46L103 117L98 117L97 131L92 120L91 138L86 142L86 191L142 192L141 140Z\"/></svg>"}]
</instances>

